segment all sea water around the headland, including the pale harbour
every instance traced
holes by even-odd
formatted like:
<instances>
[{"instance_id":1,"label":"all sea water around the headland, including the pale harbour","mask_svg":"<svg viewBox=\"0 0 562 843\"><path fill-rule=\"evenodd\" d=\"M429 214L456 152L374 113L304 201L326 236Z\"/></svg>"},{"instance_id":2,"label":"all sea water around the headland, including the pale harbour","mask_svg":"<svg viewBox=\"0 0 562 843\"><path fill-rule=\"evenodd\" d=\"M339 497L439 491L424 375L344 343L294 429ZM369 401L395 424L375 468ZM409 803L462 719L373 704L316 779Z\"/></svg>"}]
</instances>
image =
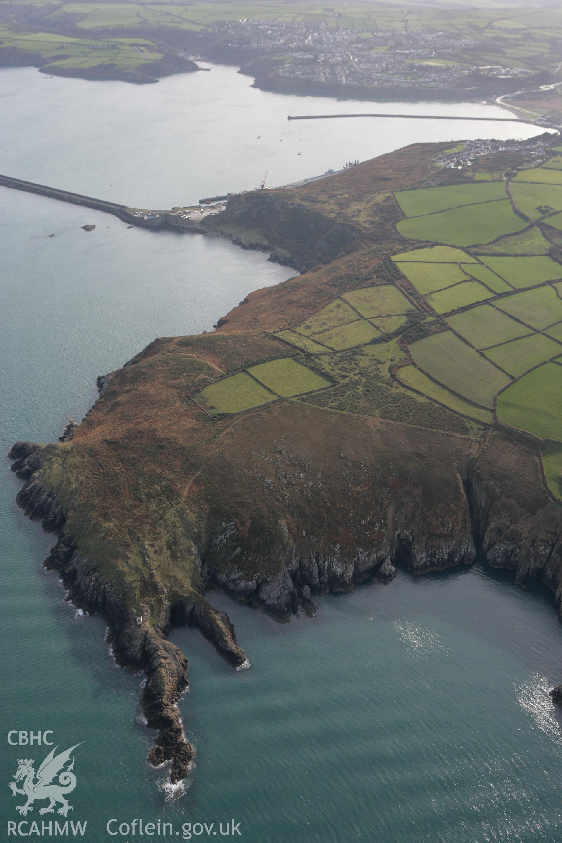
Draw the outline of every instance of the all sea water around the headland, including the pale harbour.
<instances>
[{"instance_id":1,"label":"all sea water around the headland, including the pale harbour","mask_svg":"<svg viewBox=\"0 0 562 843\"><path fill-rule=\"evenodd\" d=\"M0 72L0 99L9 106L0 171L158 206L171 204L178 186L185 201L221 191L231 172L228 187L252 187L269 161L283 182L420 139L420 121L394 129L354 123L351 148L343 126L326 136L314 121L306 137L316 166L306 169L294 150L277 154L273 140L244 158L243 135L232 135L237 126L241 133L252 126L257 138L261 121L281 148L292 137L281 135L281 143L276 136L288 131L287 113L357 110L357 103L265 94L233 68L216 69L138 88L43 79L29 68ZM220 99L225 89L230 105ZM218 134L213 102L230 140ZM489 113L484 105L455 108ZM123 126L132 147L121 146ZM191 138L189 126L197 126ZM509 137L508 126L512 133L511 124L440 121L423 132L447 140ZM114 192L104 183L111 168ZM94 223L94 232L83 232L84 223ZM0 237L3 454L19 438L55 439L88 410L96 375L155 336L211 330L249 290L292 275L226 241L128 229L87 208L7 189L0 189ZM40 816L45 803L26 818L17 812L23 798L8 790L17 760L31 757L36 769L51 747L11 745L13 730L52 730L60 749L81 744L67 819L87 822L84 839L94 843L146 840L147 824L158 831L158 820L165 834L154 836L169 840L220 838L227 824L229 837L239 831L249 843L562 837L561 718L548 695L562 681L562 630L540 583L517 588L484 564L421 579L400 571L388 586L319 599L315 619L284 626L211 594L231 616L251 667L234 671L197 631L174 630L191 663L190 692L179 705L198 754L185 785L172 789L165 769L147 764L142 675L115 666L104 621L68 604L56 574L43 570L52 537L16 507L19 486L4 459L2 839L40 836L34 820L39 832L45 822L43 836L50 822L52 835L55 822L65 822L56 813ZM116 835L107 831L111 819ZM138 822L133 831L133 819L142 819L145 835ZM8 834L9 823L19 834Z\"/></svg>"}]
</instances>

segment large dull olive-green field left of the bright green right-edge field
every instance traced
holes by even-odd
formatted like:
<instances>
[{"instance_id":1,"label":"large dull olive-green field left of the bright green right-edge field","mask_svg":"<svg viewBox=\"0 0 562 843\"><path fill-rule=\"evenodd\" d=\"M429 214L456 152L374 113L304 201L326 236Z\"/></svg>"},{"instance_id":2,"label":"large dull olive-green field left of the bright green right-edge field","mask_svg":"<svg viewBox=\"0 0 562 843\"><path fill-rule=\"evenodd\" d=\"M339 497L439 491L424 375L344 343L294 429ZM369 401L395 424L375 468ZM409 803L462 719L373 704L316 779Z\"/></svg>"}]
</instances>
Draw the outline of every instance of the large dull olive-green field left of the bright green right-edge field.
<instances>
[{"instance_id":1,"label":"large dull olive-green field left of the bright green right-edge field","mask_svg":"<svg viewBox=\"0 0 562 843\"><path fill-rule=\"evenodd\" d=\"M426 336L409 349L418 366L431 378L483 407L493 407L495 394L510 381L451 330ZM559 368L562 371L562 366Z\"/></svg>"}]
</instances>

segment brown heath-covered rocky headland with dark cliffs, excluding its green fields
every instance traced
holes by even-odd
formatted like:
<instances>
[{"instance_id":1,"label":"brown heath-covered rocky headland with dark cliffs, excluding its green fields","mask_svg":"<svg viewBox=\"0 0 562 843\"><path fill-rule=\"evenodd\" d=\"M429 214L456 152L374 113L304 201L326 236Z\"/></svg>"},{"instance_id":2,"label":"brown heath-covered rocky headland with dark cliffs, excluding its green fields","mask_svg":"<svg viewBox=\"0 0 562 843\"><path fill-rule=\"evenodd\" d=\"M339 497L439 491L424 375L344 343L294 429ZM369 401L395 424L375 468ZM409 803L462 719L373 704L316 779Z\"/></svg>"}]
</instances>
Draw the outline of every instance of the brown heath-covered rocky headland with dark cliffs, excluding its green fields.
<instances>
[{"instance_id":1,"label":"brown heath-covered rocky headland with dark cliffs, excluding its green fields","mask_svg":"<svg viewBox=\"0 0 562 843\"><path fill-rule=\"evenodd\" d=\"M476 421L404 397L397 380L408 342L442 320L389 260L412 245L396 228L393 191L462 180L432 165L446 146L416 144L298 190L230 199L217 229L258 230L303 274L251 293L213 334L155 340L99 378L99 400L65 441L13 445L19 506L57 536L45 564L74 602L104 616L120 663L147 674L141 704L159 730L150 757L171 762L172 781L195 749L175 707L188 663L167 640L171 626L196 626L233 666L247 663L211 589L286 621L313 614L316 595L388 583L397 566L426 574L481 554L516 583L541 577L560 603L562 507L541 441L495 413ZM329 390L238 412L201 400L248 367L302 361L276 333L335 297L395 283L419 313L365 346L393 356L373 357L354 395L362 352L352 348L322 370L337 402Z\"/></svg>"}]
</instances>

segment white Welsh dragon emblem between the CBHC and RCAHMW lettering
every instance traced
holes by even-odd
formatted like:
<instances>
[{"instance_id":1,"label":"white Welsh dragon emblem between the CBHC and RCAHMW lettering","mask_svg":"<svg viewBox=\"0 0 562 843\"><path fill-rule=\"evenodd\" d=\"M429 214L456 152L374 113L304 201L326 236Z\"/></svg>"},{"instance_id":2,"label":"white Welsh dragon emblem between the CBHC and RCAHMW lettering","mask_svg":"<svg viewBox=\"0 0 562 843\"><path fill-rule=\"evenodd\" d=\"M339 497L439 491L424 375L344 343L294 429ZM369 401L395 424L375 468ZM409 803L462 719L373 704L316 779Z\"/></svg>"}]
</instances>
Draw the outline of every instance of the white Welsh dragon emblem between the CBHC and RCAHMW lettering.
<instances>
[{"instance_id":1,"label":"white Welsh dragon emblem between the CBHC and RCAHMW lettering","mask_svg":"<svg viewBox=\"0 0 562 843\"><path fill-rule=\"evenodd\" d=\"M35 770L33 769L34 760L32 758L18 759L18 769L13 774L15 781L10 781L8 787L12 791L12 795L21 793L22 796L27 797L27 802L24 805L17 805L16 808L19 813L27 816L28 811L33 811L33 803L35 800L49 799L49 804L46 808L40 808L39 813L53 813L56 803L61 803L62 808L58 809L63 817L67 816L69 811L72 811L72 805L67 803L65 794L70 793L76 787L76 776L72 772L74 767L74 759L72 763L65 769L65 764L71 759L72 750L76 749L80 744L71 746L70 749L55 755L56 750L60 744L57 744L54 749L47 755L43 763L37 771L37 778L35 778ZM58 776L58 781L53 781ZM16 785L16 781L24 782L23 789Z\"/></svg>"}]
</instances>

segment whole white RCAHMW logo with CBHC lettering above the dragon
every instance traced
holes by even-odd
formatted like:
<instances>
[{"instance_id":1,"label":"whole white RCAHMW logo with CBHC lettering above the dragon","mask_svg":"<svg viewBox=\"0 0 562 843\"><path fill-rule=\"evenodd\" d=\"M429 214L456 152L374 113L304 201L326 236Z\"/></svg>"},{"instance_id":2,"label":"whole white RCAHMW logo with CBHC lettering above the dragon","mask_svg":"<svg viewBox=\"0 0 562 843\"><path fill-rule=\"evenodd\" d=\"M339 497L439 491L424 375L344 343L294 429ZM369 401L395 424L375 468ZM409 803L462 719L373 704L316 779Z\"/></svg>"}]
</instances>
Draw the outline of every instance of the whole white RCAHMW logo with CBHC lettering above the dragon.
<instances>
[{"instance_id":1,"label":"whole white RCAHMW logo with CBHC lettering above the dragon","mask_svg":"<svg viewBox=\"0 0 562 843\"><path fill-rule=\"evenodd\" d=\"M13 730L8 732L8 744L12 746L26 746L32 744L46 744L51 746L53 741L51 738L52 732L50 730L44 733L29 734L24 731ZM62 817L66 817L73 807L68 803L67 795L72 793L76 787L76 774L74 773L74 757L72 755L74 749L82 744L74 744L70 749L65 749L63 752L56 754L56 750L60 744L51 749L51 752L45 756L41 761L37 772L35 773L35 760L33 758L19 758L18 769L13 774L13 781L10 781L8 787L12 791L12 796L25 797L25 802L16 805L15 808L19 813L27 816L29 811L33 811L34 802L42 802L45 799L49 800L48 805L40 808L40 815L45 813L55 813L56 806L57 813ZM21 787L18 787L20 783ZM19 823L8 821L8 836L15 835L21 837L30 837L32 835L50 836L61 835L67 836L69 833L74 836L83 835L86 830L87 822L73 823L55 822L42 820L41 823L29 822L29 820L21 820Z\"/></svg>"}]
</instances>

